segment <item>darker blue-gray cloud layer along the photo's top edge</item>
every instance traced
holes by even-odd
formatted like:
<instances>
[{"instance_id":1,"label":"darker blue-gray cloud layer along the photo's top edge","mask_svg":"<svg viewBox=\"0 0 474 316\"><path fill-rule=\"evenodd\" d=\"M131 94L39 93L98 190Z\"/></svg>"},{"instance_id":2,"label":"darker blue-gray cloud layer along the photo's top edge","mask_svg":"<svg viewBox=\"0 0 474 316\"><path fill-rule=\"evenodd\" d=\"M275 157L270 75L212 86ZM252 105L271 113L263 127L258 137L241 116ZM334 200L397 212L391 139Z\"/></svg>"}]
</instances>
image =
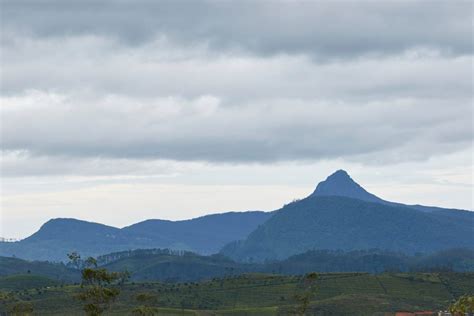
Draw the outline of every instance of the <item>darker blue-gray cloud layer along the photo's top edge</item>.
<instances>
[{"instance_id":1,"label":"darker blue-gray cloud layer along the photo's top edge","mask_svg":"<svg viewBox=\"0 0 474 316\"><path fill-rule=\"evenodd\" d=\"M3 1L2 26L31 37L99 35L317 60L428 47L472 53L469 1Z\"/></svg>"}]
</instances>

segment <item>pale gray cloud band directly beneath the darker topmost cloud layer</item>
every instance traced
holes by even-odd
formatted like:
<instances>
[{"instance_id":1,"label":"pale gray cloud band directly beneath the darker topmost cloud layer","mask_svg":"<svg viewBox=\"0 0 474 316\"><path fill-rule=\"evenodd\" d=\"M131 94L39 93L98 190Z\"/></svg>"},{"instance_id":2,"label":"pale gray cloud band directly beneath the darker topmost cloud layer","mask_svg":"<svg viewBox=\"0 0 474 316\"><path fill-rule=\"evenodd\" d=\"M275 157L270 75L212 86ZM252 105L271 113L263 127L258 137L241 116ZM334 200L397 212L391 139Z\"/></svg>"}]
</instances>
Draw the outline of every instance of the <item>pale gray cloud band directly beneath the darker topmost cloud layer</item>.
<instances>
[{"instance_id":1,"label":"pale gray cloud band directly beneath the darker topmost cloud layer","mask_svg":"<svg viewBox=\"0 0 474 316\"><path fill-rule=\"evenodd\" d=\"M102 37L13 38L3 48L4 93L28 89L143 96L202 94L234 100L471 95L472 59L413 50L314 64L304 56L216 56L166 40L130 48Z\"/></svg>"}]
</instances>

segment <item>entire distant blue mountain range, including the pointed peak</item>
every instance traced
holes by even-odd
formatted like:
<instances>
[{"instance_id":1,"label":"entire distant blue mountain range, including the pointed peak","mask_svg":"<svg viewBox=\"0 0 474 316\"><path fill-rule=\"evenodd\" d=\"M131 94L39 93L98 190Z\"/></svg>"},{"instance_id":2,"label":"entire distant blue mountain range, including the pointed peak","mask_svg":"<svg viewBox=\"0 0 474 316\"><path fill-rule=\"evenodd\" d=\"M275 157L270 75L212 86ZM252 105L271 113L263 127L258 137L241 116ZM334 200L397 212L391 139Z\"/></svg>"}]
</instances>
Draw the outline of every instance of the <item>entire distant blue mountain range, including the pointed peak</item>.
<instances>
[{"instance_id":1,"label":"entire distant blue mountain range, including the pointed peak","mask_svg":"<svg viewBox=\"0 0 474 316\"><path fill-rule=\"evenodd\" d=\"M122 229L76 219L52 219L0 255L62 261L147 248L217 253L236 261L282 260L310 250L377 248L406 254L474 247L474 212L383 200L343 170L308 197L273 212L228 212L184 221L147 220Z\"/></svg>"}]
</instances>

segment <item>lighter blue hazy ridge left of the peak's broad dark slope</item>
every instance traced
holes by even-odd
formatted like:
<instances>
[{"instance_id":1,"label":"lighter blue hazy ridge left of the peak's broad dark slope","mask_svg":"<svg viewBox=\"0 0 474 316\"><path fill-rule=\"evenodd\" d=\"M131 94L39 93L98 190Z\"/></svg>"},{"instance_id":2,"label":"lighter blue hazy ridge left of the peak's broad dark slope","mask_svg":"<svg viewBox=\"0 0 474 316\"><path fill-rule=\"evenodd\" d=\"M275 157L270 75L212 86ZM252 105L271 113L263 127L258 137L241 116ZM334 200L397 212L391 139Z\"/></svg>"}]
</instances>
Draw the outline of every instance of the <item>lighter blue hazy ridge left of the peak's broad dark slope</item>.
<instances>
[{"instance_id":1,"label":"lighter blue hazy ridge left of the peak's broad dark slope","mask_svg":"<svg viewBox=\"0 0 474 316\"><path fill-rule=\"evenodd\" d=\"M229 212L184 221L147 220L122 229L77 219L53 219L19 242L0 242L0 255L63 261L72 251L98 256L139 248L210 254L228 242L245 238L270 216L257 211Z\"/></svg>"}]
</instances>

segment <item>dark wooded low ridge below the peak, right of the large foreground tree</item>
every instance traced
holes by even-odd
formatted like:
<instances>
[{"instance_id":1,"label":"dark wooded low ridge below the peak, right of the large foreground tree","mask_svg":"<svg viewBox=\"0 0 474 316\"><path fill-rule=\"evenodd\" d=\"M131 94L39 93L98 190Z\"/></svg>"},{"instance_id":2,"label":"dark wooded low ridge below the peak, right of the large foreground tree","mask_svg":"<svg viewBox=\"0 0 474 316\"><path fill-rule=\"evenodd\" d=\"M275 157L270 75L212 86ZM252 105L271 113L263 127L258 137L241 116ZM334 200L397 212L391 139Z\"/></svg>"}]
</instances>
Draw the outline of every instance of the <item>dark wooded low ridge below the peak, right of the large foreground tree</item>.
<instances>
[{"instance_id":1,"label":"dark wooded low ridge below the peak, right of the large foreground tree","mask_svg":"<svg viewBox=\"0 0 474 316\"><path fill-rule=\"evenodd\" d=\"M123 255L123 254L122 254ZM447 271L445 267L474 272L474 251L452 249L430 256L409 257L381 251L338 253L310 251L284 261L267 264L236 263L222 256L195 254L169 255L132 252L130 256L110 255L110 263L104 265L111 271L127 270L133 281L190 282L215 277L228 277L250 272L278 273L285 275L308 272L371 272L424 271L432 267ZM114 259L115 258L115 259ZM115 261L113 261L115 260ZM454 270L456 271L456 270Z\"/></svg>"}]
</instances>

